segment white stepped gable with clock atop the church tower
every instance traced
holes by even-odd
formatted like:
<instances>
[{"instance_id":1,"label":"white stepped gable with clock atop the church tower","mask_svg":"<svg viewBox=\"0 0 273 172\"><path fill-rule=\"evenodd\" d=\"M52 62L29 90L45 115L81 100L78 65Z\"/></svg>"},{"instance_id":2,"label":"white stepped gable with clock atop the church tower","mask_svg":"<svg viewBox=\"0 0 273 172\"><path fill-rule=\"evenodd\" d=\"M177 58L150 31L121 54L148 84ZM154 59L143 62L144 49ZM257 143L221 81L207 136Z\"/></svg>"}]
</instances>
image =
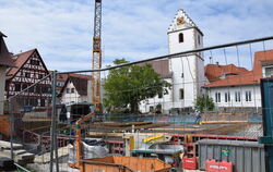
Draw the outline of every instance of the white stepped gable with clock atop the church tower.
<instances>
[{"instance_id":1,"label":"white stepped gable with clock atop the church tower","mask_svg":"<svg viewBox=\"0 0 273 172\"><path fill-rule=\"evenodd\" d=\"M189 17L189 15L182 10L178 10L171 24L169 25L168 33L185 29L185 28L197 28L202 35L203 33L198 28L195 23Z\"/></svg>"}]
</instances>

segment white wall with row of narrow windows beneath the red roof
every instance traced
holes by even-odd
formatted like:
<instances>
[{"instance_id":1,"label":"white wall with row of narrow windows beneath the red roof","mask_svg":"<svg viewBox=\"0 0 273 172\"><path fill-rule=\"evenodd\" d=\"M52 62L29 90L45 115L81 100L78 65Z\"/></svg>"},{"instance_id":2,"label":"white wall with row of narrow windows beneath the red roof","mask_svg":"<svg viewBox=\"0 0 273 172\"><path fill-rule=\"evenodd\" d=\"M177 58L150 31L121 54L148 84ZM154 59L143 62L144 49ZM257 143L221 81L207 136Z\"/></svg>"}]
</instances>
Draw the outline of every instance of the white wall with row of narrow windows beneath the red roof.
<instances>
[{"instance_id":1,"label":"white wall with row of narrow windows beneath the red roof","mask_svg":"<svg viewBox=\"0 0 273 172\"><path fill-rule=\"evenodd\" d=\"M246 101L246 91L251 91L251 101ZM230 93L230 102L225 102L225 93ZM235 91L240 91L241 101L235 101ZM215 102L215 93L221 93L221 102ZM213 98L216 107L261 107L260 85L235 86L235 87L215 87L207 89L207 94Z\"/></svg>"}]
</instances>

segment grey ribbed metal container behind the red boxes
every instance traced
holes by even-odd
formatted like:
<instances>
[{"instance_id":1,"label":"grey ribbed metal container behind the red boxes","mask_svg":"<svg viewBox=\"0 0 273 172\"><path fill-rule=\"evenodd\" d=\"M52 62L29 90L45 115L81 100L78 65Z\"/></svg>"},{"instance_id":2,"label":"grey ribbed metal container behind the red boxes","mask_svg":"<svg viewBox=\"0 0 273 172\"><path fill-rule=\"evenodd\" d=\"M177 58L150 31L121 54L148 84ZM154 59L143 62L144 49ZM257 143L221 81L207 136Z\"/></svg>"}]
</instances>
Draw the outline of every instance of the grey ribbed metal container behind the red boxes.
<instances>
[{"instance_id":1,"label":"grey ribbed metal container behind the red boxes","mask_svg":"<svg viewBox=\"0 0 273 172\"><path fill-rule=\"evenodd\" d=\"M223 153L228 151L228 153ZM265 172L264 147L258 142L212 140L199 142L199 168L205 170L205 160L233 162L234 172Z\"/></svg>"}]
</instances>

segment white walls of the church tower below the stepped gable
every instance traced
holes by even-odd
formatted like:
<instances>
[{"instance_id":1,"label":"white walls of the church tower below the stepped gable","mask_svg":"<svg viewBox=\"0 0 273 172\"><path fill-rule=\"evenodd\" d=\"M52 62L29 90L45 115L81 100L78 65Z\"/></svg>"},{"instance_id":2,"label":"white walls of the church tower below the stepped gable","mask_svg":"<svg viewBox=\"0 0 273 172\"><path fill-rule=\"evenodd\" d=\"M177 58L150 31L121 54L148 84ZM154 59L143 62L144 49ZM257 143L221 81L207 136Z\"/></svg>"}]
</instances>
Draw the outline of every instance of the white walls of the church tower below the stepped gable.
<instances>
[{"instance_id":1,"label":"white walls of the church tower below the stepped gable","mask_svg":"<svg viewBox=\"0 0 273 172\"><path fill-rule=\"evenodd\" d=\"M183 34L183 42L179 42L179 34ZM200 37L200 44L198 41ZM203 47L203 36L195 27L168 33L169 53L178 53ZM195 98L204 85L203 53L183 56L170 60L173 76L173 108L193 107ZM183 75L183 77L182 77ZM183 88L185 99L180 99L179 90Z\"/></svg>"}]
</instances>

